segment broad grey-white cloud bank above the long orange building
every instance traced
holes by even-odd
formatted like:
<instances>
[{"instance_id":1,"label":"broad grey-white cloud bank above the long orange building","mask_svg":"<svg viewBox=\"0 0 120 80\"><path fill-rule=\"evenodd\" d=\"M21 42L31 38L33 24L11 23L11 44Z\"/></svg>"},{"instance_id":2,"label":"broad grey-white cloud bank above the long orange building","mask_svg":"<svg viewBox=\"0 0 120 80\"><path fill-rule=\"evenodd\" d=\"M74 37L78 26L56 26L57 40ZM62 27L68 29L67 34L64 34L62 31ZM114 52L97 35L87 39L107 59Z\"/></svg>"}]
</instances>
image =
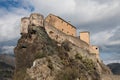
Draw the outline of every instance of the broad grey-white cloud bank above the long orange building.
<instances>
[{"instance_id":1,"label":"broad grey-white cloud bank above the long orange building","mask_svg":"<svg viewBox=\"0 0 120 80\"><path fill-rule=\"evenodd\" d=\"M31 5L35 8L34 12L45 16L54 13L70 21L78 31L96 33L120 25L119 0L34 0Z\"/></svg>"}]
</instances>

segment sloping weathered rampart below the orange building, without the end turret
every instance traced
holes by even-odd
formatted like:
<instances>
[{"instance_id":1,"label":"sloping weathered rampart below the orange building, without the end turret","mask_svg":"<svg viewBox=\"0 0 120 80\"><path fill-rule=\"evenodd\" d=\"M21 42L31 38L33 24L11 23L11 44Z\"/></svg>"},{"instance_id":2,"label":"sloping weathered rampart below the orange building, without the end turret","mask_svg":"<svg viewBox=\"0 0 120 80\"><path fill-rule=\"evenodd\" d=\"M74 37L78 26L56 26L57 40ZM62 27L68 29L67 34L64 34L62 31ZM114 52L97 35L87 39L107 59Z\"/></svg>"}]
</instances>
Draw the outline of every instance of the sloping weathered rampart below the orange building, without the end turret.
<instances>
[{"instance_id":1,"label":"sloping weathered rampart below the orange building, without the end turret","mask_svg":"<svg viewBox=\"0 0 120 80\"><path fill-rule=\"evenodd\" d=\"M45 30L47 31L48 35L50 36L51 39L54 39L58 43L62 43L65 40L70 41L72 44L76 45L77 47L84 48L85 50L89 50L89 45L70 35L66 35L62 31L59 31L57 28L53 27L49 23L45 22Z\"/></svg>"}]
</instances>

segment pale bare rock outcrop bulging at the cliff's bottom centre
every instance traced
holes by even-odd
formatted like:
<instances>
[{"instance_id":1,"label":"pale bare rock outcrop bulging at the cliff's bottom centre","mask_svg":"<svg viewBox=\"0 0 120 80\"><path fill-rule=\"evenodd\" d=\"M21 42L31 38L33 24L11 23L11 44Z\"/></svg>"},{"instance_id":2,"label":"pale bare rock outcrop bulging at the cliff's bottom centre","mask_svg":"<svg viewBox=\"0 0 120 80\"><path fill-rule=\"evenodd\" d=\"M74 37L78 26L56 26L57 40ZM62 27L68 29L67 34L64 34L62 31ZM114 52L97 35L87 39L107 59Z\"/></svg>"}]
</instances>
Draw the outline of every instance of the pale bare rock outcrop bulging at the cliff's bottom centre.
<instances>
[{"instance_id":1,"label":"pale bare rock outcrop bulging at the cliff's bottom centre","mask_svg":"<svg viewBox=\"0 0 120 80\"><path fill-rule=\"evenodd\" d=\"M33 66L27 69L27 73L32 79L54 80L56 73L61 71L63 67L60 57L53 55L35 60Z\"/></svg>"}]
</instances>

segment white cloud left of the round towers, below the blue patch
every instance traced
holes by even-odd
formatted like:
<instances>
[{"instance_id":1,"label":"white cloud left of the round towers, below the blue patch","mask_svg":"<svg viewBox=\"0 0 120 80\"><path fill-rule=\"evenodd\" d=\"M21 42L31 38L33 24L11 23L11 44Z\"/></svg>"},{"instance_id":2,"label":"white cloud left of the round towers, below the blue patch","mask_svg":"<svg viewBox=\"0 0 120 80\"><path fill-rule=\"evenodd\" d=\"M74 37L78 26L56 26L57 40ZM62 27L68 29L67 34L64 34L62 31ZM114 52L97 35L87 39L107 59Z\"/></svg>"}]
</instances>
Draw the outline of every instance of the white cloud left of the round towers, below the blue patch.
<instances>
[{"instance_id":1,"label":"white cloud left of the round towers, below the blue patch","mask_svg":"<svg viewBox=\"0 0 120 80\"><path fill-rule=\"evenodd\" d=\"M9 13L0 18L0 42L19 37L21 15Z\"/></svg>"}]
</instances>

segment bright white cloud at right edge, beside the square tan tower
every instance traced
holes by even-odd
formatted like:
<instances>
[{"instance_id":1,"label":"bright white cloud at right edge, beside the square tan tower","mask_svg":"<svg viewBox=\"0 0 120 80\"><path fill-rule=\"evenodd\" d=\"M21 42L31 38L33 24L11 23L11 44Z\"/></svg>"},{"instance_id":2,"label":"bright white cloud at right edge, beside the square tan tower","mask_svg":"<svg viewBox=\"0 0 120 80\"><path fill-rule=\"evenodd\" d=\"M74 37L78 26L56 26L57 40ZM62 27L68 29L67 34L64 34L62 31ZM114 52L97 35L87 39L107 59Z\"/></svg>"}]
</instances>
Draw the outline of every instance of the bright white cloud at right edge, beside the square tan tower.
<instances>
[{"instance_id":1,"label":"bright white cloud at right edge, beside the square tan tower","mask_svg":"<svg viewBox=\"0 0 120 80\"><path fill-rule=\"evenodd\" d=\"M115 27L112 30L105 30L92 35L92 43L99 46L104 45L120 45L120 26Z\"/></svg>"}]
</instances>

